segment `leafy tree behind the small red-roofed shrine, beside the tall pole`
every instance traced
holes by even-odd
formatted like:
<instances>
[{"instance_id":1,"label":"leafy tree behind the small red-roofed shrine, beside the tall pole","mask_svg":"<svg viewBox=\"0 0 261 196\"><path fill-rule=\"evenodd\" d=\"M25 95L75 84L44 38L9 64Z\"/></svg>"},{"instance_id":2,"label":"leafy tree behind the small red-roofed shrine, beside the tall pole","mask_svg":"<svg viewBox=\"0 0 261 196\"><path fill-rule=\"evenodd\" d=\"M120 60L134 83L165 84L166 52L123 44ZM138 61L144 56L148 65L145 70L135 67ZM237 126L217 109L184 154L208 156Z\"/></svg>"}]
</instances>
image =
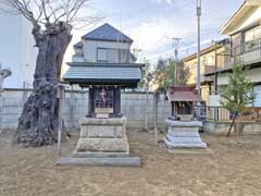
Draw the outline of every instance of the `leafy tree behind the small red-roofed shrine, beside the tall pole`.
<instances>
[{"instance_id":1,"label":"leafy tree behind the small red-roofed shrine, beside the tall pole","mask_svg":"<svg viewBox=\"0 0 261 196\"><path fill-rule=\"evenodd\" d=\"M175 68L177 69L177 78L175 78ZM175 84L177 86L186 86L189 78L189 69L184 66L182 61L173 59L159 59L154 70L154 84L158 90L165 91L167 86Z\"/></svg>"}]
</instances>

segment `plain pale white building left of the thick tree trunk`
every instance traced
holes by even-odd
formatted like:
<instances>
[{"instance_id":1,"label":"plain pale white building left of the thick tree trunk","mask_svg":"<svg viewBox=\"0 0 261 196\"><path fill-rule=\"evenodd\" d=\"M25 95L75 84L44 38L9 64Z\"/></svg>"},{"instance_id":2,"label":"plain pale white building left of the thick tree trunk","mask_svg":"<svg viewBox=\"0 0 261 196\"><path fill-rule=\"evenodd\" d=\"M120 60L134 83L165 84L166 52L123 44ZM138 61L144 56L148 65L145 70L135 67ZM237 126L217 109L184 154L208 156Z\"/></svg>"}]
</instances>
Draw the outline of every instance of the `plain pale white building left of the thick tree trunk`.
<instances>
[{"instance_id":1,"label":"plain pale white building left of the thick tree trunk","mask_svg":"<svg viewBox=\"0 0 261 196\"><path fill-rule=\"evenodd\" d=\"M37 56L32 26L22 15L3 12L0 12L0 63L12 71L3 87L32 87Z\"/></svg>"}]
</instances>

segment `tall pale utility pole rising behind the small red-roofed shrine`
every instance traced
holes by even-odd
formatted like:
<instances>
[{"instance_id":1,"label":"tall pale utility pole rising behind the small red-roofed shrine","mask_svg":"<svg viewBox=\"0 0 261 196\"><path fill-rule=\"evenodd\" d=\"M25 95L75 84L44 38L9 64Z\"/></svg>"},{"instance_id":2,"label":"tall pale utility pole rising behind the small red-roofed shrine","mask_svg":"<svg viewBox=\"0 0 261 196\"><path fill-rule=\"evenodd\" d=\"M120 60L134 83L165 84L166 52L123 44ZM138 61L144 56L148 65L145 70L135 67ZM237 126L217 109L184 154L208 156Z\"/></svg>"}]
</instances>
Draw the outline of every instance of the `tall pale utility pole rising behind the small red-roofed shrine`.
<instances>
[{"instance_id":1,"label":"tall pale utility pole rising behind the small red-roofed shrine","mask_svg":"<svg viewBox=\"0 0 261 196\"><path fill-rule=\"evenodd\" d=\"M197 0L197 20L198 20L198 69L197 69L197 91L200 95L200 16L201 0Z\"/></svg>"}]
</instances>

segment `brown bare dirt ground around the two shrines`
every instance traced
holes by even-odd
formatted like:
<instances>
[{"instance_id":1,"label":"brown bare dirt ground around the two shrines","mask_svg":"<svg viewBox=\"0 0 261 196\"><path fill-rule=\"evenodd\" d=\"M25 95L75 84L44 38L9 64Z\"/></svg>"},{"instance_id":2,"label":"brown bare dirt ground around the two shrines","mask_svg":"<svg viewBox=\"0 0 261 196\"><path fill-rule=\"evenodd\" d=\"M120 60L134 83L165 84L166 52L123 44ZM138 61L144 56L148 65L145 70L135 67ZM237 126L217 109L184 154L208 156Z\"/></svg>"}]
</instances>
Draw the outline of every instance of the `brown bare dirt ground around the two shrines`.
<instances>
[{"instance_id":1,"label":"brown bare dirt ground around the two shrines","mask_svg":"<svg viewBox=\"0 0 261 196\"><path fill-rule=\"evenodd\" d=\"M239 139L202 134L212 154L179 155L153 145L153 135L129 132L140 168L57 167L55 146L11 146L0 134L1 196L260 196L261 136ZM63 157L77 136L63 143Z\"/></svg>"}]
</instances>

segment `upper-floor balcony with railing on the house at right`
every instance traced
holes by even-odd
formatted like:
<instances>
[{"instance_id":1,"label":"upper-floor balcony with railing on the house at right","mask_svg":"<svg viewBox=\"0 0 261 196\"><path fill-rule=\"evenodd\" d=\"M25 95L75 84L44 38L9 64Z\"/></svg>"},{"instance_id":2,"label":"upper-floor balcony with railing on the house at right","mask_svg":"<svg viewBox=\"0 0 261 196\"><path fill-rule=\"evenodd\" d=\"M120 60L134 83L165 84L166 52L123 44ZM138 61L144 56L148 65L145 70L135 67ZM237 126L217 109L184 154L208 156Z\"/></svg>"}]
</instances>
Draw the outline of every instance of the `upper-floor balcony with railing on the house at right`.
<instances>
[{"instance_id":1,"label":"upper-floor balcony with railing on the house at right","mask_svg":"<svg viewBox=\"0 0 261 196\"><path fill-rule=\"evenodd\" d=\"M261 39L247 41L216 54L219 71L232 69L236 63L248 65L257 62L261 62Z\"/></svg>"}]
</instances>

